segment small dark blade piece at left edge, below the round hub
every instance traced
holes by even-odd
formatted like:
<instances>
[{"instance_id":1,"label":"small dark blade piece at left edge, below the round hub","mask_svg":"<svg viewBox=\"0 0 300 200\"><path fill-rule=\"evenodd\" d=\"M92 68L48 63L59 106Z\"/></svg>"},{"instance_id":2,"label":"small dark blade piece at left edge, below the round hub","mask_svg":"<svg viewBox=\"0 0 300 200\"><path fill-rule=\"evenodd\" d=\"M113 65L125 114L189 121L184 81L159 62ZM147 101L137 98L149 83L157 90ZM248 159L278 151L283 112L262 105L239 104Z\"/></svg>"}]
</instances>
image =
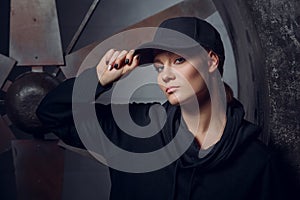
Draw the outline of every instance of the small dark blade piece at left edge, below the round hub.
<instances>
[{"instance_id":1,"label":"small dark blade piece at left edge, below the round hub","mask_svg":"<svg viewBox=\"0 0 300 200\"><path fill-rule=\"evenodd\" d=\"M15 139L14 134L0 116L0 154L10 149L13 139Z\"/></svg>"}]
</instances>

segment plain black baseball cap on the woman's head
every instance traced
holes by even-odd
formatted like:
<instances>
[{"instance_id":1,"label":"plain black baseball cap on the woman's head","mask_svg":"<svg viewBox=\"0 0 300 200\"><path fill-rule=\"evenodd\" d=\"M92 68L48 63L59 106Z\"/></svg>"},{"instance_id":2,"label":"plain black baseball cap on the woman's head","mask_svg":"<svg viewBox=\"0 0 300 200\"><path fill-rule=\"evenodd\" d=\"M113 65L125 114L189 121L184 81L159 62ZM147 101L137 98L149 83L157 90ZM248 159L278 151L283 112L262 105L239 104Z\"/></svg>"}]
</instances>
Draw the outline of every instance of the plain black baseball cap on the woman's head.
<instances>
[{"instance_id":1,"label":"plain black baseball cap on the woman's head","mask_svg":"<svg viewBox=\"0 0 300 200\"><path fill-rule=\"evenodd\" d=\"M136 54L141 55L142 65L153 62L154 49L177 53L195 49L199 45L225 59L220 34L210 23L197 17L175 17L163 21L153 40L139 46Z\"/></svg>"}]
</instances>

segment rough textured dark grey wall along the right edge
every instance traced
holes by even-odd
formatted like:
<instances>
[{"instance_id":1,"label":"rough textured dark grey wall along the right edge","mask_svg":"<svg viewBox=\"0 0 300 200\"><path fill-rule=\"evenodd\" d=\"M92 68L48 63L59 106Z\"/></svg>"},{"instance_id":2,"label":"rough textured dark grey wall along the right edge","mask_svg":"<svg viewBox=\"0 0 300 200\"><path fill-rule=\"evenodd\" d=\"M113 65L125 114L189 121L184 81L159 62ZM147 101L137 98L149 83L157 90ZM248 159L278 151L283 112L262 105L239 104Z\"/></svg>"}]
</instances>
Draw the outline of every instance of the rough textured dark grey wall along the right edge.
<instances>
[{"instance_id":1,"label":"rough textured dark grey wall along the right edge","mask_svg":"<svg viewBox=\"0 0 300 200\"><path fill-rule=\"evenodd\" d=\"M270 145L300 181L300 2L247 0L265 56Z\"/></svg>"}]
</instances>

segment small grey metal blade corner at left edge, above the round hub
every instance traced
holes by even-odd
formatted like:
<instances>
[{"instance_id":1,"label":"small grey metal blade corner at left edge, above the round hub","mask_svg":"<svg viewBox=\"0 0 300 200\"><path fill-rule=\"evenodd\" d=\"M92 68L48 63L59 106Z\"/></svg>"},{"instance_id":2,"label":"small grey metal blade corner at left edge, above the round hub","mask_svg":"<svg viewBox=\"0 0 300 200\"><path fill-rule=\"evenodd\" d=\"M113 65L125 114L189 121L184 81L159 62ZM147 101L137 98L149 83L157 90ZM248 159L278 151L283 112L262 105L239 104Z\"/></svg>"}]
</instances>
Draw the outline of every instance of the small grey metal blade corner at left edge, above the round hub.
<instances>
[{"instance_id":1,"label":"small grey metal blade corner at left edge, above the round hub","mask_svg":"<svg viewBox=\"0 0 300 200\"><path fill-rule=\"evenodd\" d=\"M8 74L15 66L16 61L0 54L0 88L2 88Z\"/></svg>"}]
</instances>

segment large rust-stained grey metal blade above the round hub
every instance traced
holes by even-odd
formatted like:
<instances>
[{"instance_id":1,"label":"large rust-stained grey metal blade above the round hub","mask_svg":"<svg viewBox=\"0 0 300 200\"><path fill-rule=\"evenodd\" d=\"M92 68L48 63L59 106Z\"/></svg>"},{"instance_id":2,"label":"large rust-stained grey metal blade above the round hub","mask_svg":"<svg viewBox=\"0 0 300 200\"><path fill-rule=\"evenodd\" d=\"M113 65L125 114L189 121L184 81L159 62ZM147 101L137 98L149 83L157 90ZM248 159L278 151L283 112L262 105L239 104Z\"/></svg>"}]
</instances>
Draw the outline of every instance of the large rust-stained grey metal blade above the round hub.
<instances>
[{"instance_id":1,"label":"large rust-stained grey metal blade above the round hub","mask_svg":"<svg viewBox=\"0 0 300 200\"><path fill-rule=\"evenodd\" d=\"M18 65L63 65L55 0L11 0L10 57Z\"/></svg>"}]
</instances>

